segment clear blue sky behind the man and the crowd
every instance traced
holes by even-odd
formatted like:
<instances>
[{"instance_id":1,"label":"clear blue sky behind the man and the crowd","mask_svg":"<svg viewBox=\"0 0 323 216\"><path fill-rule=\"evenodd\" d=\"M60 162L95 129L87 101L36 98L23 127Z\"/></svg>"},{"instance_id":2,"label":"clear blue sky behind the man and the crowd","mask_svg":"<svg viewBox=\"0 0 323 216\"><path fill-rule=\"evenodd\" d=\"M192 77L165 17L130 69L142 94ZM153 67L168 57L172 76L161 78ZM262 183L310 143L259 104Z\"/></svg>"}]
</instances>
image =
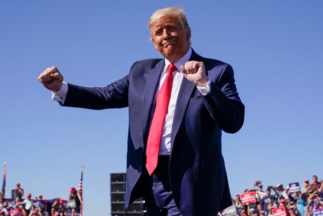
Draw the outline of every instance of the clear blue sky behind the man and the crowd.
<instances>
[{"instance_id":1,"label":"clear blue sky behind the man and the crowd","mask_svg":"<svg viewBox=\"0 0 323 216\"><path fill-rule=\"evenodd\" d=\"M243 128L223 134L232 195L255 180L266 187L323 178L322 1L1 1L7 197L20 182L33 197L66 199L84 165L84 214L110 214L110 173L126 168L128 110L60 107L37 77L55 65L67 82L105 86L133 62L161 58L146 23L178 5L192 47L233 66L246 106Z\"/></svg>"}]
</instances>

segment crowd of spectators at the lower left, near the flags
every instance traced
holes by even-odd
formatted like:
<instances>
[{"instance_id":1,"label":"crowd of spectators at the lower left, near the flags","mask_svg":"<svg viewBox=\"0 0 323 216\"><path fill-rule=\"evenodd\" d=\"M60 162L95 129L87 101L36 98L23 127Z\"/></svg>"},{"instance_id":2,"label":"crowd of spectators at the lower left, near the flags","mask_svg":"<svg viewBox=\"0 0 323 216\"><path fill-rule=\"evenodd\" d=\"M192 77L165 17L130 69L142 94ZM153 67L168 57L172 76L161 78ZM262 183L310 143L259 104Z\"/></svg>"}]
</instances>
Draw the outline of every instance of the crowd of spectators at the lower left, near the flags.
<instances>
[{"instance_id":1,"label":"crowd of spectators at the lower left, near the flags","mask_svg":"<svg viewBox=\"0 0 323 216\"><path fill-rule=\"evenodd\" d=\"M32 198L28 193L23 199L24 189L20 183L12 191L12 199L0 195L0 215L4 216L76 216L80 215L83 203L82 189L70 188L67 200L53 198L44 200L42 195Z\"/></svg>"}]
</instances>

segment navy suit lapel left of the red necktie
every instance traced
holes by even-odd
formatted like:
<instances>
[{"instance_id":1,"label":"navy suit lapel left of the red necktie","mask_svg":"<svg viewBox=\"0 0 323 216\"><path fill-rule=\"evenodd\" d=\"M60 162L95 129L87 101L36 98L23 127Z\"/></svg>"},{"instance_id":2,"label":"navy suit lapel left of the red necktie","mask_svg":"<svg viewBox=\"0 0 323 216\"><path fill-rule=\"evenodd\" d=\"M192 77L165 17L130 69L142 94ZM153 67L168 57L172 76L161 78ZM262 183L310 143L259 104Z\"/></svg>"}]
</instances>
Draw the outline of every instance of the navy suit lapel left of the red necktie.
<instances>
[{"instance_id":1,"label":"navy suit lapel left of the red necktie","mask_svg":"<svg viewBox=\"0 0 323 216\"><path fill-rule=\"evenodd\" d=\"M159 79L161 75L161 71L165 67L165 61L162 59L160 62L156 64L156 66L149 70L146 80L146 86L143 95L143 109L142 109L142 123L143 123L143 140L144 143L147 141L148 137L148 127L151 121L151 108L154 102L154 96L156 89L159 84Z\"/></svg>"}]
</instances>

